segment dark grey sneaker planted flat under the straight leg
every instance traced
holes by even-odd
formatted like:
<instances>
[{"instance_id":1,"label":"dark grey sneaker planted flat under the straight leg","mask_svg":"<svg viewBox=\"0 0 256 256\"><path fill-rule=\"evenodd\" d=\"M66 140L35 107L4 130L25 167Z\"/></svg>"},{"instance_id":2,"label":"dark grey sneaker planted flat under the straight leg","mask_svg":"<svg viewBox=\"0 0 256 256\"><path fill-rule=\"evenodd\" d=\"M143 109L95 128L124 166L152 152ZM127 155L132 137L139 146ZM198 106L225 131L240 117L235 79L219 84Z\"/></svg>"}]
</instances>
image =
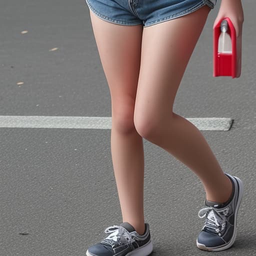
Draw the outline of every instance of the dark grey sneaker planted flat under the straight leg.
<instances>
[{"instance_id":1,"label":"dark grey sneaker planted flat under the straight leg","mask_svg":"<svg viewBox=\"0 0 256 256\"><path fill-rule=\"evenodd\" d=\"M109 226L104 232L110 234L90 246L86 251L87 256L147 256L153 250L148 223L145 223L142 235L128 222Z\"/></svg>"}]
</instances>

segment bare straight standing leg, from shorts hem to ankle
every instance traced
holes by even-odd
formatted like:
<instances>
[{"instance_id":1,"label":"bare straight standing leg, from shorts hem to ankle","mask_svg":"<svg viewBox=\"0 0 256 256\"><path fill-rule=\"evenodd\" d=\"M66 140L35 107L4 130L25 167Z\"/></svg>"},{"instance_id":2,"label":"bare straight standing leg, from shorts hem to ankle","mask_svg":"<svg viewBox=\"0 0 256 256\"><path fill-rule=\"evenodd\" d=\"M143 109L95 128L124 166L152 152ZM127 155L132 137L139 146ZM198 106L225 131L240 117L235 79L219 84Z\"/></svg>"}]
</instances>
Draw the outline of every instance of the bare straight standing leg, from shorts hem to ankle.
<instances>
[{"instance_id":1,"label":"bare straight standing leg, from shorts hem to ankle","mask_svg":"<svg viewBox=\"0 0 256 256\"><path fill-rule=\"evenodd\" d=\"M142 25L104 21L90 11L93 33L111 94L111 154L122 221L144 232L142 137L134 122Z\"/></svg>"}]
</instances>

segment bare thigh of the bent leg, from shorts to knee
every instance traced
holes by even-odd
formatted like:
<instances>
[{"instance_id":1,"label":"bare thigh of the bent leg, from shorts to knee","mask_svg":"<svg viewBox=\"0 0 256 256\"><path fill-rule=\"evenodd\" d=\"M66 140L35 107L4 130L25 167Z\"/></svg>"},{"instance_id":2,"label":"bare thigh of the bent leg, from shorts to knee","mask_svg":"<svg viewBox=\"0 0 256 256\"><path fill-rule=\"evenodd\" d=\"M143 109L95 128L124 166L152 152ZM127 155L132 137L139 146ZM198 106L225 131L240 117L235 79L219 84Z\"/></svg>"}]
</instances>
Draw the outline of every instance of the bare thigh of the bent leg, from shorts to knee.
<instances>
[{"instance_id":1,"label":"bare thigh of the bent leg, from shorts to knee","mask_svg":"<svg viewBox=\"0 0 256 256\"><path fill-rule=\"evenodd\" d=\"M137 122L172 115L173 101L188 60L205 24L209 6L143 28L135 101Z\"/></svg>"}]
</instances>

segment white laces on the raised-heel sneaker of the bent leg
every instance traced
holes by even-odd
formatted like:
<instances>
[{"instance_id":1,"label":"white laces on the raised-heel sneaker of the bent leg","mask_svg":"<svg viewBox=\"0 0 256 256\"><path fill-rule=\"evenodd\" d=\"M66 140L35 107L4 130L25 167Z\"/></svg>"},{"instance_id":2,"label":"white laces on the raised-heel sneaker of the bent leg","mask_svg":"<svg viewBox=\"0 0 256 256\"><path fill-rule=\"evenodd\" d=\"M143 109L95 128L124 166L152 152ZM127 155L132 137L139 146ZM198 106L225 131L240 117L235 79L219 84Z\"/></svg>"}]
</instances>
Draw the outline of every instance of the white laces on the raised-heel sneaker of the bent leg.
<instances>
[{"instance_id":1,"label":"white laces on the raised-heel sneaker of the bent leg","mask_svg":"<svg viewBox=\"0 0 256 256\"><path fill-rule=\"evenodd\" d=\"M222 210L215 209L214 207L205 207L200 209L198 216L200 218L206 216L203 228L206 227L206 230L216 232L220 236L220 232L226 226L226 215L228 210L229 207L226 207Z\"/></svg>"}]
</instances>

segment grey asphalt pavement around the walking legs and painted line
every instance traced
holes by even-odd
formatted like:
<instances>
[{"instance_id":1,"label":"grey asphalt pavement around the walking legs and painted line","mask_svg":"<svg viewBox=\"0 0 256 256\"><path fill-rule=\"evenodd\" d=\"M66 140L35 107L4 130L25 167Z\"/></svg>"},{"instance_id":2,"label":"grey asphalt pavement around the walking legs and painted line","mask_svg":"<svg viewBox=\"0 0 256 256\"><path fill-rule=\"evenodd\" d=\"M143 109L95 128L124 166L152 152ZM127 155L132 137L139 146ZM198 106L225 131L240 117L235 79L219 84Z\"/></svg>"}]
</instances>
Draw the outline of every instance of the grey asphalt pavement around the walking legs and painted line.
<instances>
[{"instance_id":1,"label":"grey asphalt pavement around the walking legs and painted line","mask_svg":"<svg viewBox=\"0 0 256 256\"><path fill-rule=\"evenodd\" d=\"M210 11L173 111L225 117L202 130L224 171L244 183L233 246L214 255L256 255L256 1L244 0L239 78L212 76ZM85 0L0 0L0 115L111 116L110 94ZM0 255L80 256L121 222L110 129L0 127ZM143 139L144 216L152 255L208 255L196 247L204 190L197 176Z\"/></svg>"}]
</instances>

